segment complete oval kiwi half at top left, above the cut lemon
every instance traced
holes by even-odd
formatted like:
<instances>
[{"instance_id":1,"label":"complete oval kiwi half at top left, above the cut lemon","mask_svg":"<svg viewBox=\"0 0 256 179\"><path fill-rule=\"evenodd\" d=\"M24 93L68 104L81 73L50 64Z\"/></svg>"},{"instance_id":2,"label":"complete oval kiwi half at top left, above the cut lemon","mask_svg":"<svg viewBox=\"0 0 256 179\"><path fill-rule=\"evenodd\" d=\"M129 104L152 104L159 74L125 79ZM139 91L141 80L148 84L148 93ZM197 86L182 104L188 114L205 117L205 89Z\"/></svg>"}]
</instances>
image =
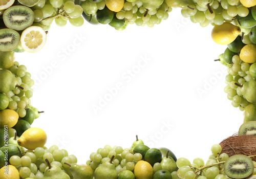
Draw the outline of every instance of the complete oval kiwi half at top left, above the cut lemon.
<instances>
[{"instance_id":1,"label":"complete oval kiwi half at top left, above the cut lemon","mask_svg":"<svg viewBox=\"0 0 256 179\"><path fill-rule=\"evenodd\" d=\"M34 12L27 6L11 6L4 12L3 19L6 27L21 31L33 24Z\"/></svg>"}]
</instances>

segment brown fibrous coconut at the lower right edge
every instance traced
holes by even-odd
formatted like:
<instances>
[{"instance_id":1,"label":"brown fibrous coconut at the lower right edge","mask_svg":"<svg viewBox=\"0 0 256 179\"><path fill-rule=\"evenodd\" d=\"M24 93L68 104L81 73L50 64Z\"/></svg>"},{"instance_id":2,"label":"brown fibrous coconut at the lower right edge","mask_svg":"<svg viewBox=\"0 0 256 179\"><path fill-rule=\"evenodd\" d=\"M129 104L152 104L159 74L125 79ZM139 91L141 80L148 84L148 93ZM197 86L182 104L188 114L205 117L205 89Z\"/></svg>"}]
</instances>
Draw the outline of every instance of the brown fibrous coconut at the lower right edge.
<instances>
[{"instance_id":1,"label":"brown fibrous coconut at the lower right edge","mask_svg":"<svg viewBox=\"0 0 256 179\"><path fill-rule=\"evenodd\" d=\"M221 153L227 153L228 156L243 154L256 155L256 136L238 136L237 134L224 139L220 143ZM252 159L256 161L256 158Z\"/></svg>"}]
</instances>

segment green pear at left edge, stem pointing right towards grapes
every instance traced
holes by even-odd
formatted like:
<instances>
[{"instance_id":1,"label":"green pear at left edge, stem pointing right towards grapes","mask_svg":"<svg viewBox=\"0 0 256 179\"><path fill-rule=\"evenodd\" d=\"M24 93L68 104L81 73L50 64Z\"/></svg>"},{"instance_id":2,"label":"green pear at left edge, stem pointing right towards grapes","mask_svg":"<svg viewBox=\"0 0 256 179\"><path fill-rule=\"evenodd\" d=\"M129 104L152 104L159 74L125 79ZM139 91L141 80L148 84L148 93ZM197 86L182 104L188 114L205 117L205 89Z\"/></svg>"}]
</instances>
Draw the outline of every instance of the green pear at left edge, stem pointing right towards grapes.
<instances>
[{"instance_id":1,"label":"green pear at left edge, stem pointing right towards grapes","mask_svg":"<svg viewBox=\"0 0 256 179\"><path fill-rule=\"evenodd\" d=\"M18 80L9 70L0 70L0 93L7 93L13 91L18 85ZM20 87L22 88L22 87Z\"/></svg>"}]
</instances>

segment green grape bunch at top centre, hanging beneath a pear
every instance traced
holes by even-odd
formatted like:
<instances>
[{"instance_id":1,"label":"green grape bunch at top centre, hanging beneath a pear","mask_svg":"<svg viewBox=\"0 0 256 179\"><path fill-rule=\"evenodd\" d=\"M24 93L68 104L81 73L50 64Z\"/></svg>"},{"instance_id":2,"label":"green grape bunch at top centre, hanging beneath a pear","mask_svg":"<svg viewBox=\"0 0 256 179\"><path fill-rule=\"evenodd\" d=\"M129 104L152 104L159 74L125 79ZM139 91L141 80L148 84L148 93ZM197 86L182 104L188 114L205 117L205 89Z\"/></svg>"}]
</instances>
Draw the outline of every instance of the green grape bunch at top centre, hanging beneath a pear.
<instances>
[{"instance_id":1,"label":"green grape bunch at top centre, hanging beneath a pear","mask_svg":"<svg viewBox=\"0 0 256 179\"><path fill-rule=\"evenodd\" d=\"M123 9L116 13L116 17L125 19L129 24L154 27L155 24L160 24L162 20L166 20L171 11L172 8L165 3L153 11L147 11L140 0L134 3L125 1Z\"/></svg>"}]
</instances>

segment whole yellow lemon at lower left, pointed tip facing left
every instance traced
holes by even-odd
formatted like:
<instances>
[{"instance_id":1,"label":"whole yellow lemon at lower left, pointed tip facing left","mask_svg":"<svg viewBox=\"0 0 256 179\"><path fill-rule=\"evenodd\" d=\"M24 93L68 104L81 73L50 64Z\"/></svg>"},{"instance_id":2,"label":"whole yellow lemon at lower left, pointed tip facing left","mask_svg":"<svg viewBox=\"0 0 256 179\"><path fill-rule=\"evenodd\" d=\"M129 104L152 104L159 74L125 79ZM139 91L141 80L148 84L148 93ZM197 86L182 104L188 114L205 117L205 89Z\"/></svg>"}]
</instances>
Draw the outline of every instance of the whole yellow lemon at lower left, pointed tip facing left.
<instances>
[{"instance_id":1,"label":"whole yellow lemon at lower left, pointed tip facing left","mask_svg":"<svg viewBox=\"0 0 256 179\"><path fill-rule=\"evenodd\" d=\"M23 132L18 139L18 145L29 150L44 147L47 141L46 132L40 128L32 127Z\"/></svg>"}]
</instances>

